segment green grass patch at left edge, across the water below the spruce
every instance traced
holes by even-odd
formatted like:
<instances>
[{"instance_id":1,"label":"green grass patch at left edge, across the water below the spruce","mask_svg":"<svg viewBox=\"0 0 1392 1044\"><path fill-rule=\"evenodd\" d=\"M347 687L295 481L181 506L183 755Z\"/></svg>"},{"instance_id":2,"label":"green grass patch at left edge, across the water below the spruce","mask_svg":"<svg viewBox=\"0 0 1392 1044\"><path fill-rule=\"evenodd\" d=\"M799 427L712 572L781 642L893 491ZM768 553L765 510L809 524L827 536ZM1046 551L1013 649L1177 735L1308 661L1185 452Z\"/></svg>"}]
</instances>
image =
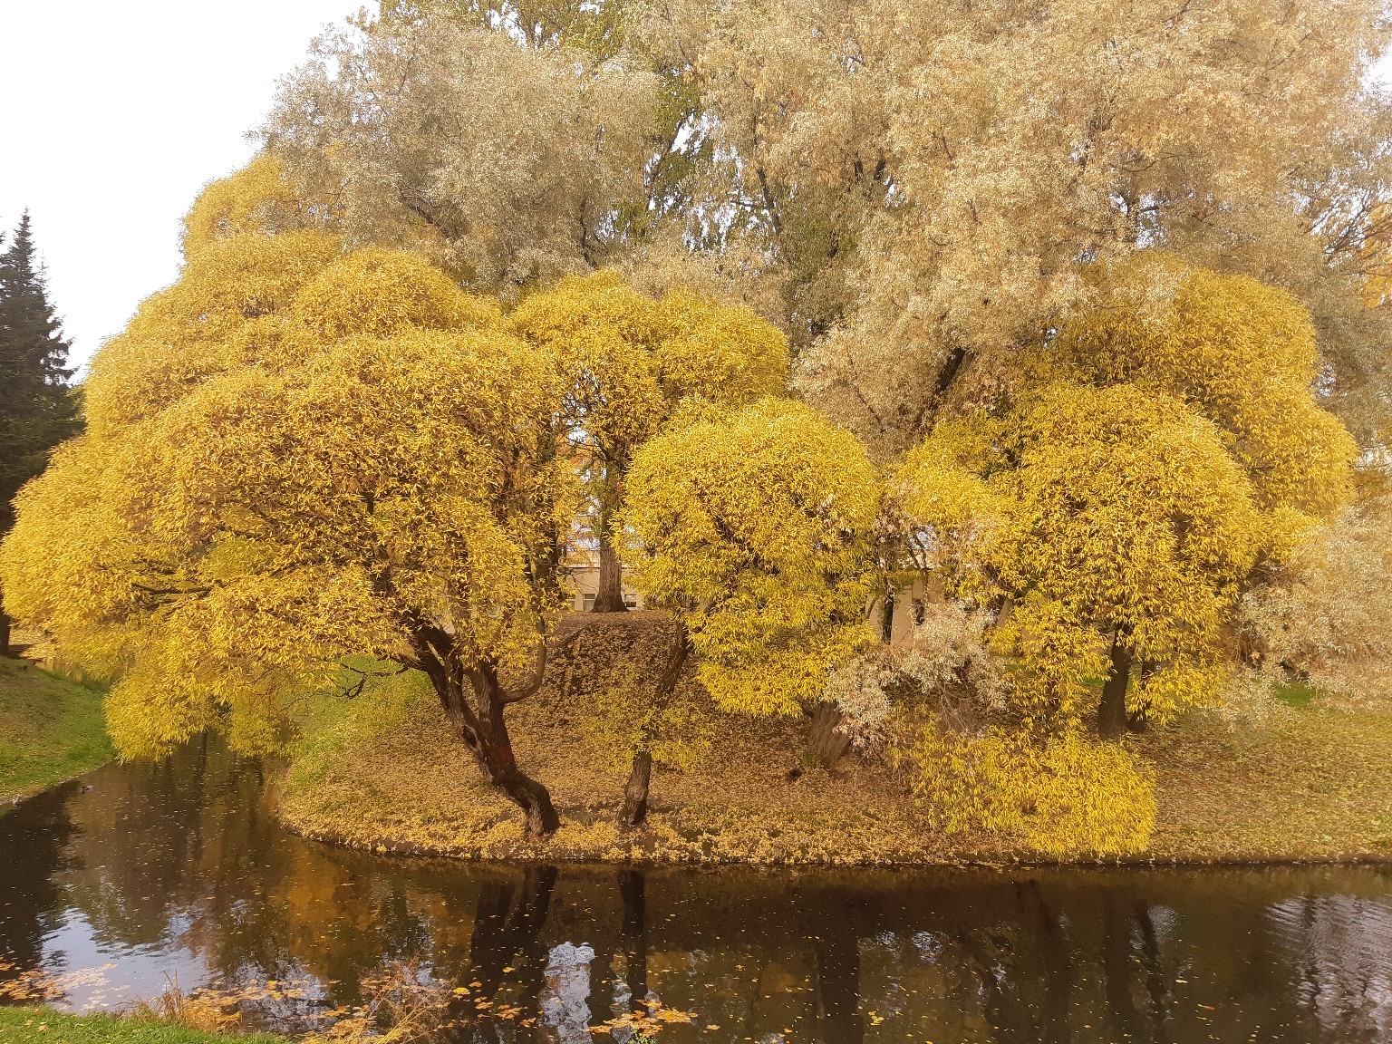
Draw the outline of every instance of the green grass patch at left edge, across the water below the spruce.
<instances>
[{"instance_id":1,"label":"green grass patch at left edge, across the water below the spruce","mask_svg":"<svg viewBox=\"0 0 1392 1044\"><path fill-rule=\"evenodd\" d=\"M0 657L0 803L111 760L102 693Z\"/></svg>"}]
</instances>

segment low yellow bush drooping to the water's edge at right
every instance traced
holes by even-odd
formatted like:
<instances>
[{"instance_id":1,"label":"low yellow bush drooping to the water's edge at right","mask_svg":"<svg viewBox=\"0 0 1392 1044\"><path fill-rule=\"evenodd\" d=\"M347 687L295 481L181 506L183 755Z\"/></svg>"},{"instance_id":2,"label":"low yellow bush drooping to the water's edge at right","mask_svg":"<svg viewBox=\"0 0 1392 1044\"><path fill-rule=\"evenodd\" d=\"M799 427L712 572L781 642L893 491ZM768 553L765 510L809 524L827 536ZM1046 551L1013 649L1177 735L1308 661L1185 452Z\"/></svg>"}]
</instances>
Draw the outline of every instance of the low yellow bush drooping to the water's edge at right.
<instances>
[{"instance_id":1,"label":"low yellow bush drooping to the water's edge at right","mask_svg":"<svg viewBox=\"0 0 1392 1044\"><path fill-rule=\"evenodd\" d=\"M903 756L919 770L915 792L949 832L999 831L1052 857L1119 856L1143 851L1155 825L1154 773L1076 729L1036 739L928 724Z\"/></svg>"}]
</instances>

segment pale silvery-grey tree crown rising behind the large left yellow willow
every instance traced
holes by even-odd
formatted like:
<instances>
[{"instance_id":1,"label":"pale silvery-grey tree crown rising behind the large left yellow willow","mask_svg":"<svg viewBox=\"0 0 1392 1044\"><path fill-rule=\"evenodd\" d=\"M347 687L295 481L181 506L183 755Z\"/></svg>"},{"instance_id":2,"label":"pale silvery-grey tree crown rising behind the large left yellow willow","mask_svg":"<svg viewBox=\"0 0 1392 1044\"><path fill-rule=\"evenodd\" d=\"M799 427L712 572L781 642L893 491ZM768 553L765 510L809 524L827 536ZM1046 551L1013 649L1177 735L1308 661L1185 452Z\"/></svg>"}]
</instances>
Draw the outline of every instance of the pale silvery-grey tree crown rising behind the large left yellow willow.
<instances>
[{"instance_id":1,"label":"pale silvery-grey tree crown rising behind the large left yellow willow","mask_svg":"<svg viewBox=\"0 0 1392 1044\"><path fill-rule=\"evenodd\" d=\"M599 7L386 4L316 40L264 142L302 196L335 200L351 245L504 296L597 267L644 198L658 106L647 70L554 39Z\"/></svg>"}]
</instances>

